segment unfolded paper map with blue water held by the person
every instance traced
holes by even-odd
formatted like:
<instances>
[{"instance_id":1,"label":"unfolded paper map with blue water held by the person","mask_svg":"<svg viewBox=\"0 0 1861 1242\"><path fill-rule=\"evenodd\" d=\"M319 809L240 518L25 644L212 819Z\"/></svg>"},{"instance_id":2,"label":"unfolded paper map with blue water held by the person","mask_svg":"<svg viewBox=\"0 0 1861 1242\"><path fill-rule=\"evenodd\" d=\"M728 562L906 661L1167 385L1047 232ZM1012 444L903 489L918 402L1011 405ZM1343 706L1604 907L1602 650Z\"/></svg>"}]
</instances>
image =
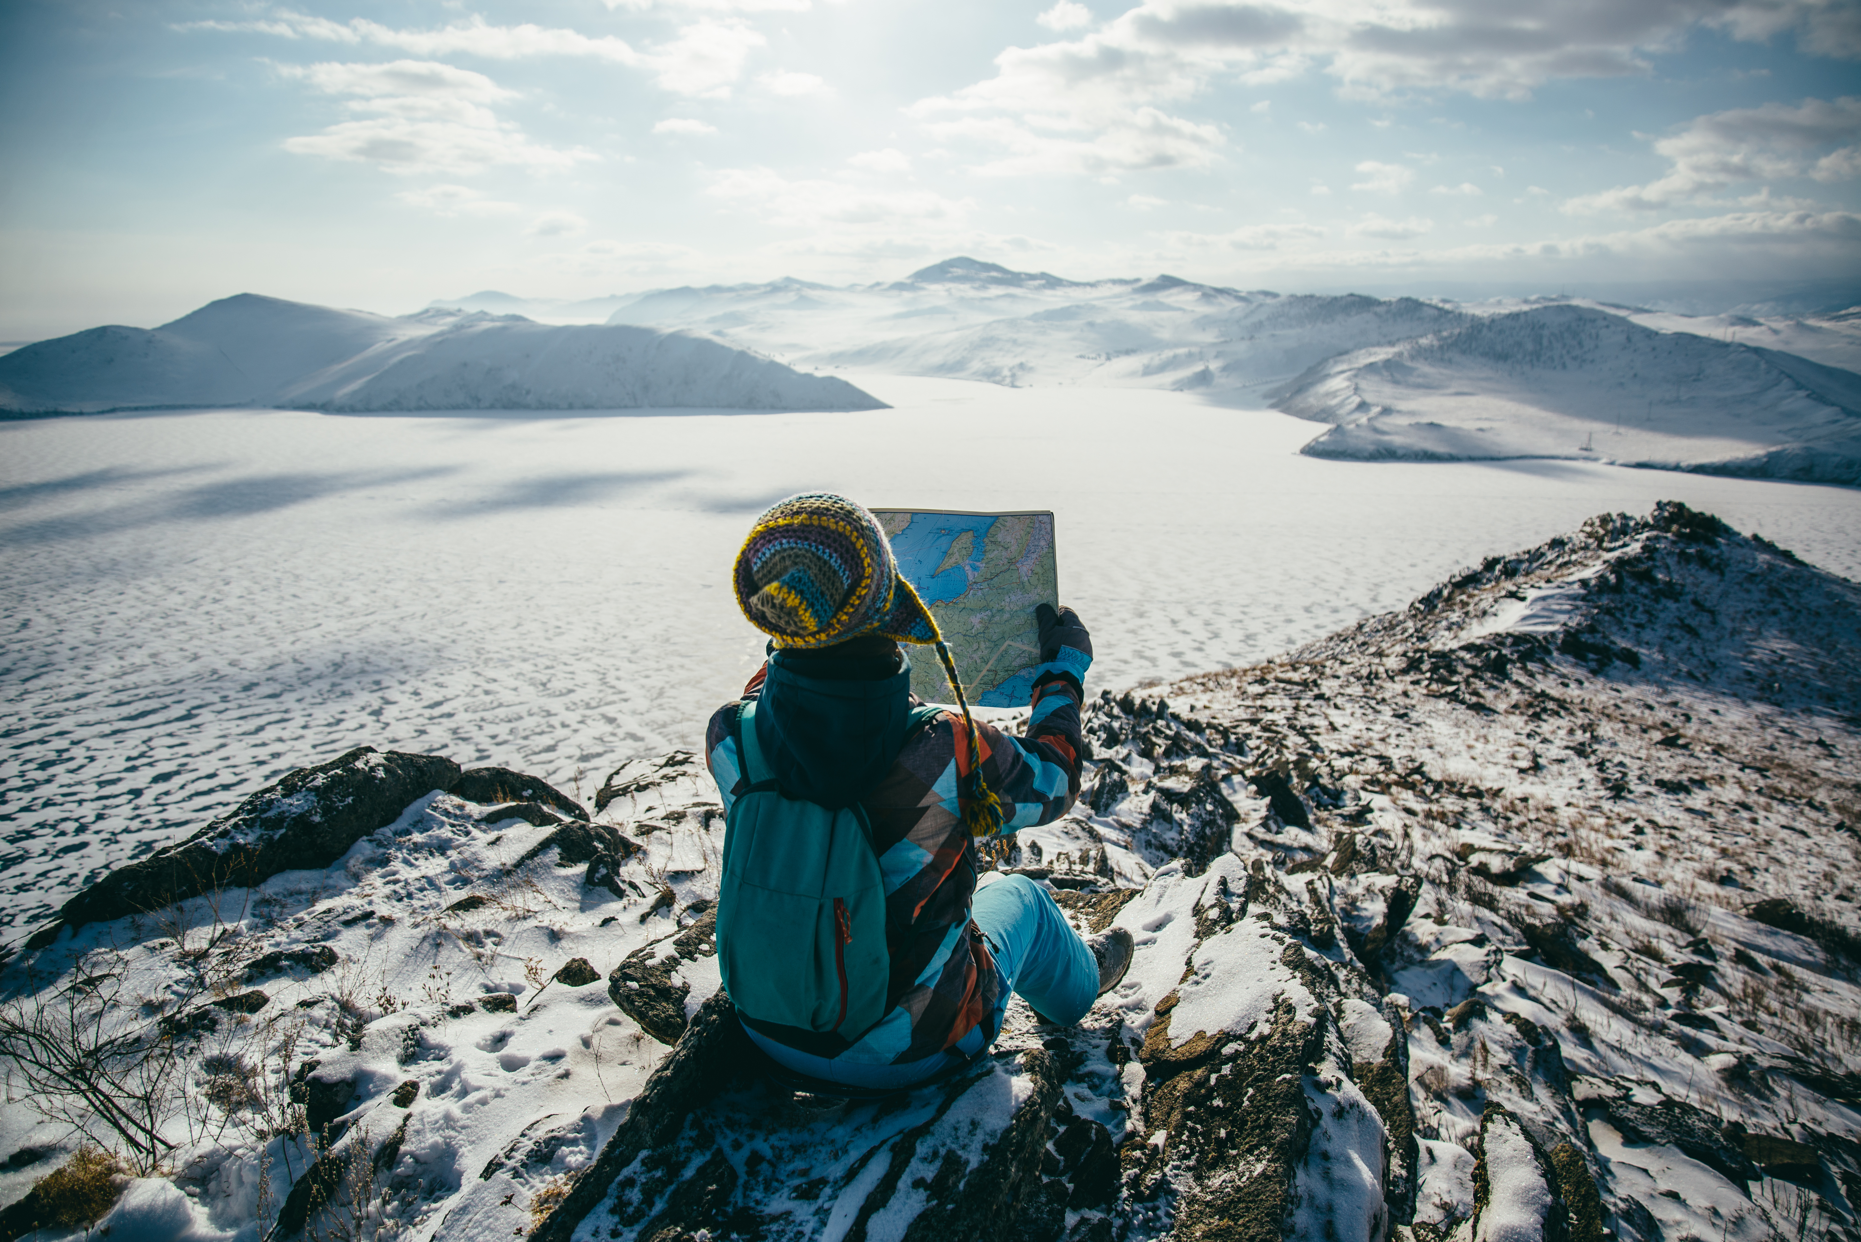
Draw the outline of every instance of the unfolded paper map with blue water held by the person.
<instances>
[{"instance_id":1,"label":"unfolded paper map with blue water held by the person","mask_svg":"<svg viewBox=\"0 0 1861 1242\"><path fill-rule=\"evenodd\" d=\"M930 608L979 707L1027 707L1040 664L1035 606L1059 608L1051 513L873 509L904 580ZM912 690L955 703L934 651L916 649Z\"/></svg>"}]
</instances>

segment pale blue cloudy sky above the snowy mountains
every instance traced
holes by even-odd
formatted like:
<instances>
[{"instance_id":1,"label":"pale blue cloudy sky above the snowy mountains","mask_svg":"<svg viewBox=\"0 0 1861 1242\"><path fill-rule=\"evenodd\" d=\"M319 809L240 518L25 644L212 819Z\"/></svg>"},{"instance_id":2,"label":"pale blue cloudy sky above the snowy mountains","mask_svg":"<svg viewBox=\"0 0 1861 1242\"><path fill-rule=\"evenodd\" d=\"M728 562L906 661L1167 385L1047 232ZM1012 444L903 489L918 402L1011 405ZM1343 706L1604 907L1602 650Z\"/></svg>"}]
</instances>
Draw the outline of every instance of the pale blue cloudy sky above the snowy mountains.
<instances>
[{"instance_id":1,"label":"pale blue cloudy sky above the snowy mountains","mask_svg":"<svg viewBox=\"0 0 1861 1242\"><path fill-rule=\"evenodd\" d=\"M1861 279L1861 0L4 0L0 340L953 255Z\"/></svg>"}]
</instances>

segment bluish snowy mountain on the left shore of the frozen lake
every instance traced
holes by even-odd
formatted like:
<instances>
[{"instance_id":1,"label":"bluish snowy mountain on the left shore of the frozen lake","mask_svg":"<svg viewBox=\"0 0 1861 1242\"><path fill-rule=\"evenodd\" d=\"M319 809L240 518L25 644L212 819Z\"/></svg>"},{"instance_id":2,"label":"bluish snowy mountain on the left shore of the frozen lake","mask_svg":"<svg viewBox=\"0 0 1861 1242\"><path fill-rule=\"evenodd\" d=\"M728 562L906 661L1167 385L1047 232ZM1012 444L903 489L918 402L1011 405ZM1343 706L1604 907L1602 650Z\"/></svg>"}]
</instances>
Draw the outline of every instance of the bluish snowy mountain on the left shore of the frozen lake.
<instances>
[{"instance_id":1,"label":"bluish snowy mountain on the left shore of the frozen lake","mask_svg":"<svg viewBox=\"0 0 1861 1242\"><path fill-rule=\"evenodd\" d=\"M705 337L240 294L156 329L97 327L0 357L0 413L199 405L424 409L880 409Z\"/></svg>"}]
</instances>

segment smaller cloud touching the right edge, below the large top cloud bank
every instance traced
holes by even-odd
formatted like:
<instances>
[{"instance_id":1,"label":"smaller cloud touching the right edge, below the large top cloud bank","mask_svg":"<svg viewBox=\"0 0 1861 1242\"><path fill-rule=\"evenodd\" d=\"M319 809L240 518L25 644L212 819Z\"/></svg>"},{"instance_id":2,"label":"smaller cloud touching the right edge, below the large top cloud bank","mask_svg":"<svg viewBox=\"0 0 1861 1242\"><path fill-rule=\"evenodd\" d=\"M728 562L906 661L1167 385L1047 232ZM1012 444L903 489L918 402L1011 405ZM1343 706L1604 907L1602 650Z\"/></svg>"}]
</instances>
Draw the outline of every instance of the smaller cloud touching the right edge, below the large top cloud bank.
<instances>
[{"instance_id":1,"label":"smaller cloud touching the right edge, below the large top cloud bank","mask_svg":"<svg viewBox=\"0 0 1861 1242\"><path fill-rule=\"evenodd\" d=\"M1567 212L1653 212L1727 186L1785 177L1846 180L1861 175L1861 99L1807 99L1798 108L1762 104L1695 117L1654 143L1666 177L1617 186L1563 205ZM1828 147L1837 151L1824 152Z\"/></svg>"}]
</instances>

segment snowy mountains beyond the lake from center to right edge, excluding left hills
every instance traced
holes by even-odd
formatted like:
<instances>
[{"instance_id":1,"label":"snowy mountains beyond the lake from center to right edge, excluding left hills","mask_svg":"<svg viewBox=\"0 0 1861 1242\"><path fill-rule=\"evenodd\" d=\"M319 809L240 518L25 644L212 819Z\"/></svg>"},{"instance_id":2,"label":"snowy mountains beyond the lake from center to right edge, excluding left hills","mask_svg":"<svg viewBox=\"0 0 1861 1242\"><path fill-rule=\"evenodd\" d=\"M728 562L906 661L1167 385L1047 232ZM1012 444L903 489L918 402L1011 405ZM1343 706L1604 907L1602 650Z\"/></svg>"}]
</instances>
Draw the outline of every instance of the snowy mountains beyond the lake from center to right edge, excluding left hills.
<instances>
[{"instance_id":1,"label":"snowy mountains beyond the lake from center to right edge, excluding left hills","mask_svg":"<svg viewBox=\"0 0 1861 1242\"><path fill-rule=\"evenodd\" d=\"M1571 457L1861 483L1861 309L1684 316L1580 297L1308 296L1066 281L949 258L903 281L651 290L609 324L797 366L1174 389L1332 424L1306 454Z\"/></svg>"}]
</instances>

